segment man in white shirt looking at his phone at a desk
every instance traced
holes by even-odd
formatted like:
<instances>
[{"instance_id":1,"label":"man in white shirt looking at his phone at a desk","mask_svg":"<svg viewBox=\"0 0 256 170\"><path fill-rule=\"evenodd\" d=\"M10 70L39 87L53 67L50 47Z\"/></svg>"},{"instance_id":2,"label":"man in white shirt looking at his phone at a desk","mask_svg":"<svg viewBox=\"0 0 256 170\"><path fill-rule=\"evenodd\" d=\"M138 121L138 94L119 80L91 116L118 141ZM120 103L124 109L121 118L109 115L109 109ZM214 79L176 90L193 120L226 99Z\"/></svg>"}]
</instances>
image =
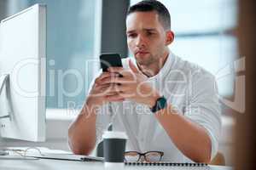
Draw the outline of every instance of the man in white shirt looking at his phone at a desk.
<instances>
[{"instance_id":1,"label":"man in white shirt looking at his phone at a desk","mask_svg":"<svg viewBox=\"0 0 256 170\"><path fill-rule=\"evenodd\" d=\"M129 8L126 35L136 61L123 59L124 68L96 77L69 128L73 152L90 154L112 123L128 134L126 151L162 151L162 161L211 161L221 127L214 77L169 50L170 14L158 1Z\"/></svg>"}]
</instances>

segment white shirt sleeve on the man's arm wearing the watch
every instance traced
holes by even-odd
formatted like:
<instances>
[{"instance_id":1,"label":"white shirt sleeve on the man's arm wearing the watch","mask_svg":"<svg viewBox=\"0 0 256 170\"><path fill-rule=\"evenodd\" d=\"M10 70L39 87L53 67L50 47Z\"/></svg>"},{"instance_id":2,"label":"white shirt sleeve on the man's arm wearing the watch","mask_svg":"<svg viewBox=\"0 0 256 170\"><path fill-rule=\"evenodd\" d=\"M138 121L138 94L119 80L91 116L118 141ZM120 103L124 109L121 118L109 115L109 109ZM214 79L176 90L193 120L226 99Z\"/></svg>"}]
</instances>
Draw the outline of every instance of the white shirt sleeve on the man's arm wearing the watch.
<instances>
[{"instance_id":1,"label":"white shirt sleeve on the man's arm wearing the watch","mask_svg":"<svg viewBox=\"0 0 256 170\"><path fill-rule=\"evenodd\" d=\"M197 71L189 83L189 105L184 115L207 130L212 142L211 160L218 152L221 111L215 78L207 71Z\"/></svg>"}]
</instances>

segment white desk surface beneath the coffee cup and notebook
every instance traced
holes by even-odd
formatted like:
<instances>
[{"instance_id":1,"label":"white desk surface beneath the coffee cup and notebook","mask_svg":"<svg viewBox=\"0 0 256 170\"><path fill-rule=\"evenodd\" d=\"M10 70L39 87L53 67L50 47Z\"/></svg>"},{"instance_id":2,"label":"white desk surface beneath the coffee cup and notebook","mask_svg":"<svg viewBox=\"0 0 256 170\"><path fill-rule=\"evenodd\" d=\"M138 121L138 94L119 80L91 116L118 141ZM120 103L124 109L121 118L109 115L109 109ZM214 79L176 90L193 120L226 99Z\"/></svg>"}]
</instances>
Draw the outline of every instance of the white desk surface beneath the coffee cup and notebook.
<instances>
[{"instance_id":1,"label":"white desk surface beneath the coffee cup and notebook","mask_svg":"<svg viewBox=\"0 0 256 170\"><path fill-rule=\"evenodd\" d=\"M104 169L102 162L85 162L85 161L55 161L55 160L0 160L0 170L99 170ZM153 170L153 169L171 169L171 170L232 170L232 167L130 167L125 169L135 170Z\"/></svg>"}]
</instances>

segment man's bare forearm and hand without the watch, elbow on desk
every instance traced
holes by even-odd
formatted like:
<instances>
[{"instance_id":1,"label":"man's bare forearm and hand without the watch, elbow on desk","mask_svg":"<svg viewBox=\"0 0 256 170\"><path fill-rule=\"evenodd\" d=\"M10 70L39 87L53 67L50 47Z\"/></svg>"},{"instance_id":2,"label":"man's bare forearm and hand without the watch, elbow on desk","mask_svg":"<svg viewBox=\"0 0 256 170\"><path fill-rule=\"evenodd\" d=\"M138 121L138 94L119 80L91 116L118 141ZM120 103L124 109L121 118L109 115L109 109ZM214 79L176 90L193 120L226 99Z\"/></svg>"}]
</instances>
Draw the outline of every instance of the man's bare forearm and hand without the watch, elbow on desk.
<instances>
[{"instance_id":1,"label":"man's bare forearm and hand without the watch, elbow on desk","mask_svg":"<svg viewBox=\"0 0 256 170\"><path fill-rule=\"evenodd\" d=\"M103 72L96 78L90 90L84 108L79 116L68 129L68 143L73 153L78 155L89 155L96 144L96 108L110 101L122 101L123 97L110 100L109 96L119 94L119 85L109 83L102 85L105 78L119 77L117 73ZM109 99L108 99L109 98ZM84 135L86 134L86 135Z\"/></svg>"}]
</instances>

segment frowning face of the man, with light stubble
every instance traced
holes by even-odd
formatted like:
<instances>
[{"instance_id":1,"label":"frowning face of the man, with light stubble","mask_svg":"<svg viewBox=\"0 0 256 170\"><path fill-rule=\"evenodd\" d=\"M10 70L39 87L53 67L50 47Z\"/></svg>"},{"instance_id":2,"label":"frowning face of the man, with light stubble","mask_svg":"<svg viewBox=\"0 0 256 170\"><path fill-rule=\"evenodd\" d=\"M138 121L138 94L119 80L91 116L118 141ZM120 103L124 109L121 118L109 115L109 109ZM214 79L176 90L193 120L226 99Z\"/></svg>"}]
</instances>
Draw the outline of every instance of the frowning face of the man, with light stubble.
<instances>
[{"instance_id":1,"label":"frowning face of the man, with light stubble","mask_svg":"<svg viewBox=\"0 0 256 170\"><path fill-rule=\"evenodd\" d=\"M126 19L128 48L141 66L157 64L166 50L166 31L153 12L134 12Z\"/></svg>"}]
</instances>

